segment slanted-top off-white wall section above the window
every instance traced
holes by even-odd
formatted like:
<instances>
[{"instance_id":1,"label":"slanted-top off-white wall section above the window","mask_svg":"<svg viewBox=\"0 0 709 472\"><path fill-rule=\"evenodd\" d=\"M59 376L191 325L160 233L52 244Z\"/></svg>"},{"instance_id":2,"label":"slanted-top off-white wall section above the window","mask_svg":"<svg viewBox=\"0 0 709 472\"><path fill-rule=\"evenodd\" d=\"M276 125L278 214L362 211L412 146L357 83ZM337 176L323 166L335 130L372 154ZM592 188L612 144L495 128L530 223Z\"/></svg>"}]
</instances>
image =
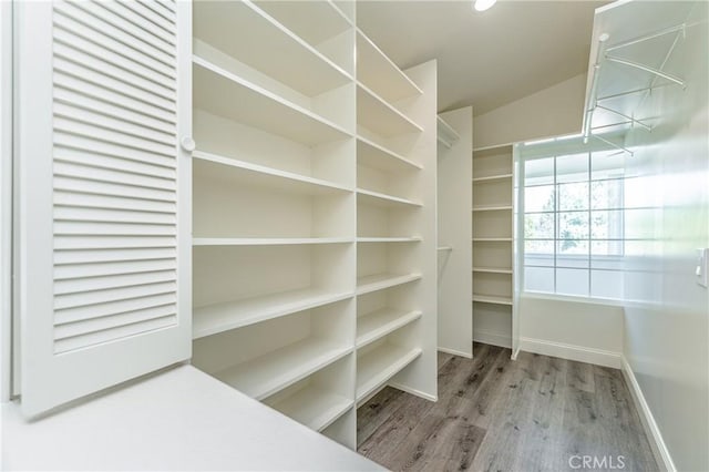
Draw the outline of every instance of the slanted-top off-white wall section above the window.
<instances>
[{"instance_id":1,"label":"slanted-top off-white wall section above the window","mask_svg":"<svg viewBox=\"0 0 709 472\"><path fill-rule=\"evenodd\" d=\"M492 110L473 121L475 148L580 132L586 73Z\"/></svg>"}]
</instances>

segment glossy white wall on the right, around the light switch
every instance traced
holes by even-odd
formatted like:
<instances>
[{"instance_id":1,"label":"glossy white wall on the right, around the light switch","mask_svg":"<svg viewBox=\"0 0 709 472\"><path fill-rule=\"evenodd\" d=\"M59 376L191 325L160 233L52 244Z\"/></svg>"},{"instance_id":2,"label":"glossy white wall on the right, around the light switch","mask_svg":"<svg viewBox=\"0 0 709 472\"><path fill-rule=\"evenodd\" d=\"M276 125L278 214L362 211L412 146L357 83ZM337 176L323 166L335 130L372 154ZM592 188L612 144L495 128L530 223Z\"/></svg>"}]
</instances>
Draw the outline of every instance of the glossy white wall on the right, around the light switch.
<instances>
[{"instance_id":1,"label":"glossy white wall on the right, around the light switch","mask_svg":"<svg viewBox=\"0 0 709 472\"><path fill-rule=\"evenodd\" d=\"M709 470L709 291L695 281L695 250L709 246L707 7L697 3L703 23L688 28L667 66L687 90L654 92L644 114L659 123L630 134L627 160L636 203L655 211L633 228L654 240L626 261L625 357L682 471Z\"/></svg>"}]
</instances>

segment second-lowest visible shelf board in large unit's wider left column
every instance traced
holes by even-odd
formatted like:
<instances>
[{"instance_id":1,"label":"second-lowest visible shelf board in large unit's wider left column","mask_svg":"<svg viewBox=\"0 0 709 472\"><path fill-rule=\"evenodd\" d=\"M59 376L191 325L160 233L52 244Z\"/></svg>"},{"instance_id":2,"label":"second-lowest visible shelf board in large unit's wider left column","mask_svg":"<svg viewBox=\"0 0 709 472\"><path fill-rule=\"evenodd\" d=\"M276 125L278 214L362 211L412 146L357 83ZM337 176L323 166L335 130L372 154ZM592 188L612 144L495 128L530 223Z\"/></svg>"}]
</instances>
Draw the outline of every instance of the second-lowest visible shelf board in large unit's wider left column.
<instances>
[{"instance_id":1,"label":"second-lowest visible shelf board in large unit's wider left column","mask_svg":"<svg viewBox=\"0 0 709 472\"><path fill-rule=\"evenodd\" d=\"M331 340L306 338L224 369L214 377L256 400L263 400L351 351L351 347Z\"/></svg>"}]
</instances>

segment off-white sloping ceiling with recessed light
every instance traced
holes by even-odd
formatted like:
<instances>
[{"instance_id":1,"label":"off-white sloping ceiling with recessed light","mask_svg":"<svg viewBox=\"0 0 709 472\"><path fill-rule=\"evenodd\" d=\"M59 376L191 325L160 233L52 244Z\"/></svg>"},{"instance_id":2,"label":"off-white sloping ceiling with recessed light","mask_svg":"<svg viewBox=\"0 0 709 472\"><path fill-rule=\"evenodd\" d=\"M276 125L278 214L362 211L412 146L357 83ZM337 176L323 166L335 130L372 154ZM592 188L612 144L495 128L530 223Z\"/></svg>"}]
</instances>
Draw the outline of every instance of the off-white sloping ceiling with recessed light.
<instances>
[{"instance_id":1,"label":"off-white sloping ceiling with recessed light","mask_svg":"<svg viewBox=\"0 0 709 472\"><path fill-rule=\"evenodd\" d=\"M588 68L594 10L607 1L360 1L359 27L398 65L438 59L439 112L480 115Z\"/></svg>"}]
</instances>

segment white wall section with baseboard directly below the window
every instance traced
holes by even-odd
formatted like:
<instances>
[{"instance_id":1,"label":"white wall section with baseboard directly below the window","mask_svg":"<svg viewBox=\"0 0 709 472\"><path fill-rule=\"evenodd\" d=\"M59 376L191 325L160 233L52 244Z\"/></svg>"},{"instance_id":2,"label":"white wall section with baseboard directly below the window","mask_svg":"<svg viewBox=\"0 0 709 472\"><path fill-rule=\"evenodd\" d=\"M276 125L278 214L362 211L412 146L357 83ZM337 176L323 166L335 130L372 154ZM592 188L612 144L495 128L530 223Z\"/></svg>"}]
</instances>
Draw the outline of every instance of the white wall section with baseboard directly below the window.
<instances>
[{"instance_id":1,"label":"white wall section with baseboard directly below the window","mask_svg":"<svg viewBox=\"0 0 709 472\"><path fill-rule=\"evenodd\" d=\"M623 307L523 295L520 349L620 367Z\"/></svg>"}]
</instances>

